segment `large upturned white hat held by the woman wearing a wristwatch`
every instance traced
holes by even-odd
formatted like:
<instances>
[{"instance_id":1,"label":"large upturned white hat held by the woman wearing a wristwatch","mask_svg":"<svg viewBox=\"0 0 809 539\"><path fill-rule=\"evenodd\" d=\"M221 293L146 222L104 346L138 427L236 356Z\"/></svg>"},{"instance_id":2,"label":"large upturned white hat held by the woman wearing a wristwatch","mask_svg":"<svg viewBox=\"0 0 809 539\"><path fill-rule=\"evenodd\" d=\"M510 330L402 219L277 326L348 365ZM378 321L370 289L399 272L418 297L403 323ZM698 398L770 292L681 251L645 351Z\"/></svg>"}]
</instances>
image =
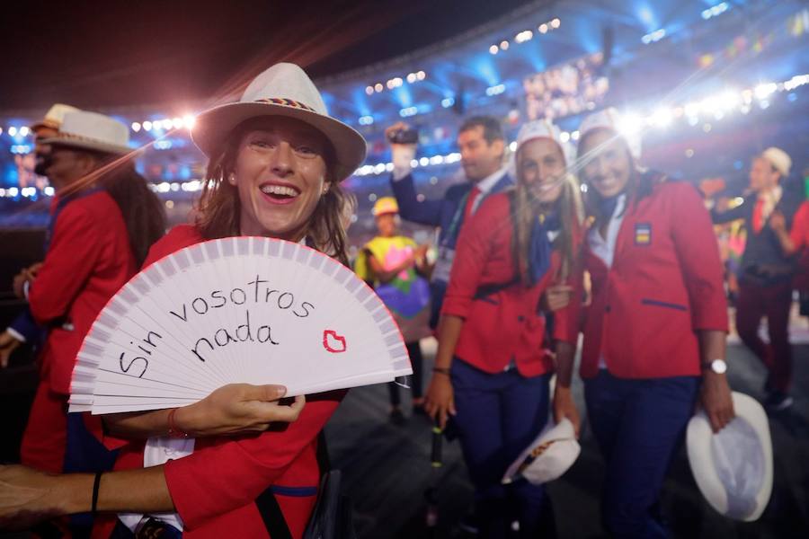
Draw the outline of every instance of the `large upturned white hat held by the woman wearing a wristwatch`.
<instances>
[{"instance_id":1,"label":"large upturned white hat held by the woman wearing a wristwatch","mask_svg":"<svg viewBox=\"0 0 809 539\"><path fill-rule=\"evenodd\" d=\"M711 507L737 520L761 516L772 492L772 441L759 402L733 392L736 417L716 434L705 411L689 421L691 473Z\"/></svg>"}]
</instances>

